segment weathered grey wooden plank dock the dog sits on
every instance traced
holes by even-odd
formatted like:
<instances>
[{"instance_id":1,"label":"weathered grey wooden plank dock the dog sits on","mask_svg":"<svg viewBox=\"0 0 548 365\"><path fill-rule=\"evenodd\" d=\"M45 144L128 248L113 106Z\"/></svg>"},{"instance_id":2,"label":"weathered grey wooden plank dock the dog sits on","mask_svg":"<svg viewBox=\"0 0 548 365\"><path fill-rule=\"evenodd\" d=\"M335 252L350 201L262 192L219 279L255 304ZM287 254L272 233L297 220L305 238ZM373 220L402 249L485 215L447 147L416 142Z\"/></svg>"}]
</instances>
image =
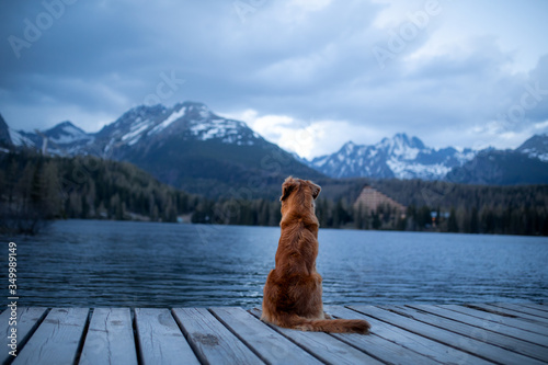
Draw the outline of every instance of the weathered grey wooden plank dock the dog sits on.
<instances>
[{"instance_id":1,"label":"weathered grey wooden plank dock the dog sits on","mask_svg":"<svg viewBox=\"0 0 548 365\"><path fill-rule=\"evenodd\" d=\"M3 364L548 364L547 304L329 306L372 334L271 327L242 308L20 308Z\"/></svg>"}]
</instances>

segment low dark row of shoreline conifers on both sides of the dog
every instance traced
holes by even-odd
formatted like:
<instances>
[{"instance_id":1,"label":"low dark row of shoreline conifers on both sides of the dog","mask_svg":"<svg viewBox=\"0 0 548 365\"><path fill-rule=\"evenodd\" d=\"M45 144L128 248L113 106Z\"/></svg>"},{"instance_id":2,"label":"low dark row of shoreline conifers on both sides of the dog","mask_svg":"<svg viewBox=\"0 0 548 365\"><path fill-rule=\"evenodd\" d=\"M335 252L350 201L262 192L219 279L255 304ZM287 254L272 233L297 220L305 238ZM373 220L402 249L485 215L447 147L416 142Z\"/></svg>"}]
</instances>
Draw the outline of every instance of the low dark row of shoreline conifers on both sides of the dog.
<instances>
[{"instance_id":1,"label":"low dark row of shoreline conifers on both sides of the dog","mask_svg":"<svg viewBox=\"0 0 548 365\"><path fill-rule=\"evenodd\" d=\"M256 199L204 203L196 206L193 223L277 226L281 219L279 202ZM412 205L402 214L386 205L370 212L364 207L354 207L343 198L336 202L320 198L316 215L323 228L548 236L546 207L473 206L470 209L452 207L443 210L427 205Z\"/></svg>"}]
</instances>

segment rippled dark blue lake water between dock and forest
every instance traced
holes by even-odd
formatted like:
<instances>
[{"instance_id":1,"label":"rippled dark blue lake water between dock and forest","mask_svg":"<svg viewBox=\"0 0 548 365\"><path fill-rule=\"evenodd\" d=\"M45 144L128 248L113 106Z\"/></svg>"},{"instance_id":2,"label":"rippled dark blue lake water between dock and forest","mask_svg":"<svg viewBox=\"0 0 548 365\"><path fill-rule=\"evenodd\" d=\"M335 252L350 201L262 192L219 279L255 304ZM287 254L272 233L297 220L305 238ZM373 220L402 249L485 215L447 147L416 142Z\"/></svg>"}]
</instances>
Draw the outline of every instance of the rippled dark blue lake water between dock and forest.
<instances>
[{"instance_id":1,"label":"rippled dark blue lake water between dock and forest","mask_svg":"<svg viewBox=\"0 0 548 365\"><path fill-rule=\"evenodd\" d=\"M18 243L20 306L259 306L277 227L57 221ZM320 229L326 304L539 301L548 239ZM3 296L2 300L5 300Z\"/></svg>"}]
</instances>

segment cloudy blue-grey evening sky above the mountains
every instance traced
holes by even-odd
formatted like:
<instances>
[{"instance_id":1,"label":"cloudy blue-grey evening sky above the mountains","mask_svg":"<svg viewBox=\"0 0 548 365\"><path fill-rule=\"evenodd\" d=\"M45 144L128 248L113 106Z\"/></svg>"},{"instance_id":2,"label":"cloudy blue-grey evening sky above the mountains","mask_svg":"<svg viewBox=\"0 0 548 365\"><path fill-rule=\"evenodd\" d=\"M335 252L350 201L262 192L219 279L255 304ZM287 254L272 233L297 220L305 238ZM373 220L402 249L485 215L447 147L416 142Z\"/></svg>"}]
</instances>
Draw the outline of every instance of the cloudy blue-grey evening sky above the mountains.
<instances>
[{"instance_id":1,"label":"cloudy blue-grey evening sky above the mountains","mask_svg":"<svg viewBox=\"0 0 548 365\"><path fill-rule=\"evenodd\" d=\"M397 133L515 148L548 132L548 1L0 3L0 114L94 133L198 101L312 158Z\"/></svg>"}]
</instances>

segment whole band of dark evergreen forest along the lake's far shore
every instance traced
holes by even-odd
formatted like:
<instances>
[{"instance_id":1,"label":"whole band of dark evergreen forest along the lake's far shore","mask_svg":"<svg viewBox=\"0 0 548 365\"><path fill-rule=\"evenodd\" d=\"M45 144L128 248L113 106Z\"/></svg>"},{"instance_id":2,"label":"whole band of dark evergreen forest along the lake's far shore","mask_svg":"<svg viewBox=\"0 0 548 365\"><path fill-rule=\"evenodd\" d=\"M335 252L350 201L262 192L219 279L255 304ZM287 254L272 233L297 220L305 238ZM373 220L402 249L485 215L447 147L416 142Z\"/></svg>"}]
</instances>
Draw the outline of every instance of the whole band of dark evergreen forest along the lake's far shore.
<instances>
[{"instance_id":1,"label":"whole band of dark evergreen forest along the lake's far shore","mask_svg":"<svg viewBox=\"0 0 548 365\"><path fill-rule=\"evenodd\" d=\"M316 213L323 228L548 236L548 186L482 186L424 181L369 181L406 212L353 202L364 180L320 181ZM336 187L338 186L338 187ZM323 195L323 196L322 196ZM207 198L153 179L126 162L96 157L0 156L0 231L35 233L54 219L277 226L272 198Z\"/></svg>"}]
</instances>

